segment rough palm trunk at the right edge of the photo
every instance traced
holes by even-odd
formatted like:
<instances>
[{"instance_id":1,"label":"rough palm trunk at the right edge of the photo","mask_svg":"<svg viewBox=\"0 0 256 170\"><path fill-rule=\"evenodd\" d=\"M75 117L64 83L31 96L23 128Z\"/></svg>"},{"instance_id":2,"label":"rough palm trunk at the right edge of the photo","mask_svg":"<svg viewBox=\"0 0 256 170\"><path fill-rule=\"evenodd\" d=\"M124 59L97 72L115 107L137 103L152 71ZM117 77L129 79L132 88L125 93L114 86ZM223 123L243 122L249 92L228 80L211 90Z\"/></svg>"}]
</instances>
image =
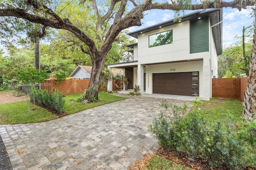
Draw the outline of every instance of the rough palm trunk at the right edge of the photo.
<instances>
[{"instance_id":1,"label":"rough palm trunk at the right edge of the photo","mask_svg":"<svg viewBox=\"0 0 256 170\"><path fill-rule=\"evenodd\" d=\"M248 86L244 92L244 112L243 116L252 119L256 111L256 16L254 10L254 36L252 41L252 58L250 62L250 72Z\"/></svg>"}]
</instances>

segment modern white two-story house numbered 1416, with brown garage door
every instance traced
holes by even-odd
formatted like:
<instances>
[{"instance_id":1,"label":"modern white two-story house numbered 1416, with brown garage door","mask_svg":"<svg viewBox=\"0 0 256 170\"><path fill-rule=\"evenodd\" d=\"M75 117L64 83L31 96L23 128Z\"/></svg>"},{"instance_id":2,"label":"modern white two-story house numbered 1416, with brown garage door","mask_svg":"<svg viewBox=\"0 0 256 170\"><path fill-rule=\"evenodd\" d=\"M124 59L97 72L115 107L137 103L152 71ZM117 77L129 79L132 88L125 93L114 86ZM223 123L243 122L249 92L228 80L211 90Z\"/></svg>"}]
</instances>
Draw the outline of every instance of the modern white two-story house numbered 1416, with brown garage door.
<instances>
[{"instance_id":1,"label":"modern white two-story house numbered 1416, with brown garage door","mask_svg":"<svg viewBox=\"0 0 256 170\"><path fill-rule=\"evenodd\" d=\"M139 85L142 94L212 97L222 54L222 9L194 12L128 35L138 40L128 45L134 61L108 65L124 69L128 89Z\"/></svg>"}]
</instances>

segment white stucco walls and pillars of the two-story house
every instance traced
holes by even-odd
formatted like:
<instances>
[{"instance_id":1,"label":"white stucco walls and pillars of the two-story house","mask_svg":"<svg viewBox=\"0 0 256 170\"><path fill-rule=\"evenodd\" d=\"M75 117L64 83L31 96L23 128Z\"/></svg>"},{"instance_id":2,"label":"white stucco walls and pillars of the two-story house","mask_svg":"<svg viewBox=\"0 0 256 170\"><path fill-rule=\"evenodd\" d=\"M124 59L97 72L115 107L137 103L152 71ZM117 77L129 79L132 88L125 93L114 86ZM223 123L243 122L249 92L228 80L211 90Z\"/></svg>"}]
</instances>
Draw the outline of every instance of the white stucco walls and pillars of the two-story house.
<instances>
[{"instance_id":1,"label":"white stucco walls and pillars of the two-story house","mask_svg":"<svg viewBox=\"0 0 256 170\"><path fill-rule=\"evenodd\" d=\"M134 60L136 63L118 63L109 67L123 67L134 65L133 83L141 88L141 93L153 93L152 75L154 73L183 73L199 72L199 97L209 100L212 97L212 81L218 77L218 59L214 36L209 19L209 50L206 52L190 53L190 21L159 28L138 34L138 45L134 46ZM172 43L149 47L149 36L172 30ZM146 74L146 81L144 81ZM146 90L143 90L145 82Z\"/></svg>"}]
</instances>

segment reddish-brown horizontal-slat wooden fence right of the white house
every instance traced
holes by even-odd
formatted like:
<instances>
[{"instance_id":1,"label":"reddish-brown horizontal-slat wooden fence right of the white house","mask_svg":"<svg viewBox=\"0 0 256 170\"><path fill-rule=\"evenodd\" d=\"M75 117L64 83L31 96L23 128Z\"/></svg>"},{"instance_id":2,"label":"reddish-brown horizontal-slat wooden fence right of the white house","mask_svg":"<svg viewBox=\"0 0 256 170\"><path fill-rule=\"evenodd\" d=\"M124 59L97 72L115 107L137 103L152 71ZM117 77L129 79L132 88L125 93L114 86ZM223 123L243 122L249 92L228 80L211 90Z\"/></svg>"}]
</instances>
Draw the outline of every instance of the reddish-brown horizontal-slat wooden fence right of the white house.
<instances>
[{"instance_id":1,"label":"reddish-brown horizontal-slat wooden fence right of the white house","mask_svg":"<svg viewBox=\"0 0 256 170\"><path fill-rule=\"evenodd\" d=\"M212 79L212 97L241 99L244 101L248 77Z\"/></svg>"}]
</instances>

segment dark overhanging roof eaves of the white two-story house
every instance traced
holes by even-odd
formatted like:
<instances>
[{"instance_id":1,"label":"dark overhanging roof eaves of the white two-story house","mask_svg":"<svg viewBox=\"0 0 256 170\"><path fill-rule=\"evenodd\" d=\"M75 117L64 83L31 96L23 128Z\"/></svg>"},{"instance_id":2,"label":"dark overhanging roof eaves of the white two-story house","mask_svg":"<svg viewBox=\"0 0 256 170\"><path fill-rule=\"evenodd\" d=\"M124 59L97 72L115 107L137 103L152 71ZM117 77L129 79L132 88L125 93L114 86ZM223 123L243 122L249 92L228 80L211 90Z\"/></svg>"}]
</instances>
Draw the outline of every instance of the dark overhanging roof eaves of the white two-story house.
<instances>
[{"instance_id":1,"label":"dark overhanging roof eaves of the white two-story house","mask_svg":"<svg viewBox=\"0 0 256 170\"><path fill-rule=\"evenodd\" d=\"M222 8L219 9L212 9L212 10L203 10L203 11L196 11L188 15L184 15L181 18L181 22L184 21L195 21L198 20L198 18L210 18L211 26L212 26L212 32L214 37L214 43L216 46L217 55L222 54ZM132 36L136 39L138 39L139 34L143 34L145 32L150 32L154 30L158 30L161 26L162 28L166 26L171 26L174 24L178 24L178 21L175 21L175 19L168 20L166 22L162 22L160 24L156 24L154 26L150 26L147 28L142 28L140 30L130 32L127 35ZM136 45L136 43L126 45L128 47L133 48Z\"/></svg>"}]
</instances>

